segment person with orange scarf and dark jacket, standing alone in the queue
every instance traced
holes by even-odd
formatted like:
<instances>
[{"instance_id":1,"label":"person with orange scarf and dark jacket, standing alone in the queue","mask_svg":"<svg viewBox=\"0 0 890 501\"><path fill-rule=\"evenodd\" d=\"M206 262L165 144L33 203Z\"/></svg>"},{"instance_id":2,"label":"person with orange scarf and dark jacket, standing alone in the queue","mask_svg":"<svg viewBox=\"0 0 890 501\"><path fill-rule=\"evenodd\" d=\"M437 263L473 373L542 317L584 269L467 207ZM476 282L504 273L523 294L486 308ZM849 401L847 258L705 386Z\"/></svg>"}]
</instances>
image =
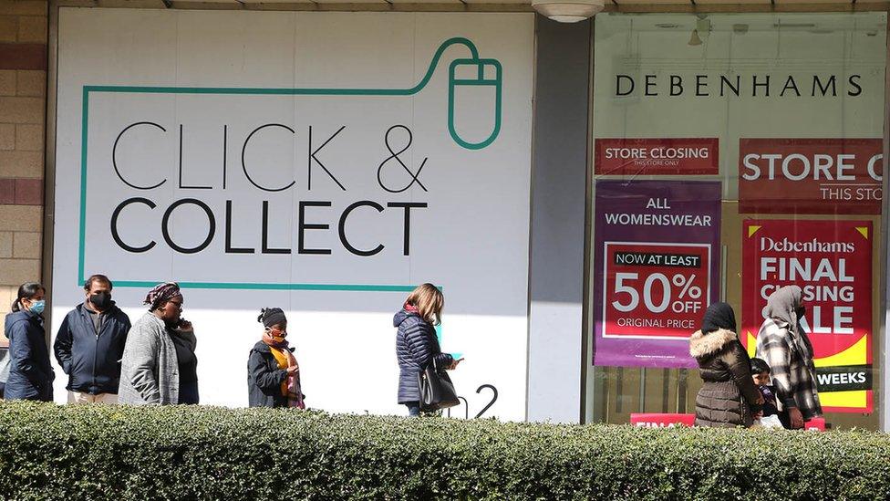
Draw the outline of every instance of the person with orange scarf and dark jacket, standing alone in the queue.
<instances>
[{"instance_id":1,"label":"person with orange scarf and dark jacket, standing alone in the queue","mask_svg":"<svg viewBox=\"0 0 890 501\"><path fill-rule=\"evenodd\" d=\"M305 409L300 386L300 365L287 340L287 318L281 308L263 308L257 321L263 339L247 359L247 398L251 407Z\"/></svg>"}]
</instances>

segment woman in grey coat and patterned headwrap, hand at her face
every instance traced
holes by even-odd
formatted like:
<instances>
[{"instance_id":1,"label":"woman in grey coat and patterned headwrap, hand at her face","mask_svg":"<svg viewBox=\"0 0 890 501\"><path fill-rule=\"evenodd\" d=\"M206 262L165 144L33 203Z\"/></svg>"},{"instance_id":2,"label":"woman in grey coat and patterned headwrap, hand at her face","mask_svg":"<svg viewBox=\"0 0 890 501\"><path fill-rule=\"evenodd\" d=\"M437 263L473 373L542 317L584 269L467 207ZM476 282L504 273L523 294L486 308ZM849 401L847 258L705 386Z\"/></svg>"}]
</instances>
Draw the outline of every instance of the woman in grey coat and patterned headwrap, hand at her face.
<instances>
[{"instance_id":1,"label":"woman in grey coat and patterned headwrap, hand at her face","mask_svg":"<svg viewBox=\"0 0 890 501\"><path fill-rule=\"evenodd\" d=\"M149 311L129 331L120 362L119 403L198 402L196 339L181 318L182 294L174 282L150 290Z\"/></svg>"}]
</instances>

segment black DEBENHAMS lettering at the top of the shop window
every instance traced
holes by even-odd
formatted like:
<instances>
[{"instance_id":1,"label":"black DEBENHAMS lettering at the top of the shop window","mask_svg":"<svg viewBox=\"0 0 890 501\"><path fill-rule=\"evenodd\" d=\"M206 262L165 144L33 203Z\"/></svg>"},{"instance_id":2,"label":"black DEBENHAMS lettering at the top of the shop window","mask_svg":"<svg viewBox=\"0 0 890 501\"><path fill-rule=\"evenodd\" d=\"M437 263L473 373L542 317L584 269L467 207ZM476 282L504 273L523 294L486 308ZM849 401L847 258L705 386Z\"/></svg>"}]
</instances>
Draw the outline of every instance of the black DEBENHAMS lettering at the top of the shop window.
<instances>
[{"instance_id":1,"label":"black DEBENHAMS lettering at the top of the shop window","mask_svg":"<svg viewBox=\"0 0 890 501\"><path fill-rule=\"evenodd\" d=\"M635 92L636 90L636 92ZM626 75L617 74L616 96L852 98L863 93L862 75Z\"/></svg>"}]
</instances>

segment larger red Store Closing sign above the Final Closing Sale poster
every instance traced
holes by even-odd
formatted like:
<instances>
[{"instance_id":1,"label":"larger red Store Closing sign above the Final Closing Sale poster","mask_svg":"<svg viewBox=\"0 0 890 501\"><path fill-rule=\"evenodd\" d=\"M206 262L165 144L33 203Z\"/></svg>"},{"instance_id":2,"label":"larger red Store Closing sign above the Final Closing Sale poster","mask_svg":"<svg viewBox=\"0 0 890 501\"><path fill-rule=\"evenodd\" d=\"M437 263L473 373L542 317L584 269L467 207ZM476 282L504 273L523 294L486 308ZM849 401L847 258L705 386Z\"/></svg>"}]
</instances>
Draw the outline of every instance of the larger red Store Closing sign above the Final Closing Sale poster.
<instances>
[{"instance_id":1,"label":"larger red Store Closing sign above the Final Closing Sale poster","mask_svg":"<svg viewBox=\"0 0 890 501\"><path fill-rule=\"evenodd\" d=\"M881 214L880 139L741 139L741 214Z\"/></svg>"}]
</instances>

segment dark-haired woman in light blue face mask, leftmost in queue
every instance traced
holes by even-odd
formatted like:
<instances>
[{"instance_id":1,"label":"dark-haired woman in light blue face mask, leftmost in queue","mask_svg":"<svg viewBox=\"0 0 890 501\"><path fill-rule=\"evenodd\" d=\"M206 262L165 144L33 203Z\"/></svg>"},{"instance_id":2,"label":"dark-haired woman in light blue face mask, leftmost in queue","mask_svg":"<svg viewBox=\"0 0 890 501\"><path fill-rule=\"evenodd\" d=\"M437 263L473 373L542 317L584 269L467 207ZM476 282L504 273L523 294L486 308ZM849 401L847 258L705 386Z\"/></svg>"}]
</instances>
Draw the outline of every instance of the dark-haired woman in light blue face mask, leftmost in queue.
<instances>
[{"instance_id":1,"label":"dark-haired woman in light blue face mask, leftmost in queue","mask_svg":"<svg viewBox=\"0 0 890 501\"><path fill-rule=\"evenodd\" d=\"M49 347L43 328L47 291L36 282L18 287L12 312L5 318L9 339L9 379L5 400L52 402L56 375L49 364Z\"/></svg>"}]
</instances>

